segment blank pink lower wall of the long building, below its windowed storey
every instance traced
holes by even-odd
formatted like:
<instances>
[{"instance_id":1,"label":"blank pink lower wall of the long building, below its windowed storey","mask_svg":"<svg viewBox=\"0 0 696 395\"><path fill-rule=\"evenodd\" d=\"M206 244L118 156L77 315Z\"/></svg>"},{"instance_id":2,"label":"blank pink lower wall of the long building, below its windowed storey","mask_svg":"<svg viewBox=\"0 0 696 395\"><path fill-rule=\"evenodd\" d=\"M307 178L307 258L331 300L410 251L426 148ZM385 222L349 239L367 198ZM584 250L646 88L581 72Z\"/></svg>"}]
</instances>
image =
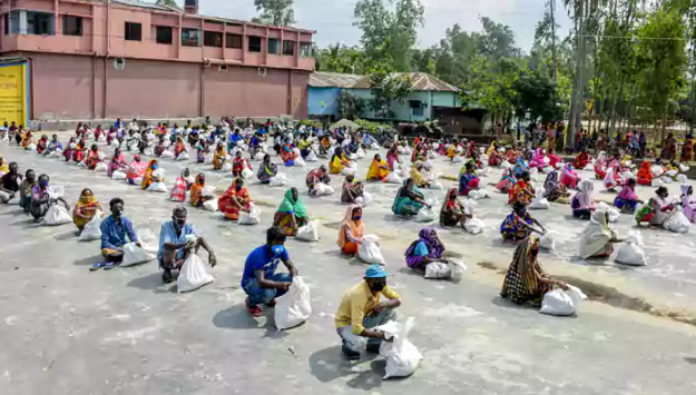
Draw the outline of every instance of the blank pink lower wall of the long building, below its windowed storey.
<instances>
[{"instance_id":1,"label":"blank pink lower wall of the long building, below its windowed storey","mask_svg":"<svg viewBox=\"0 0 696 395\"><path fill-rule=\"evenodd\" d=\"M308 72L248 67L81 56L14 53L30 58L32 119L305 118Z\"/></svg>"}]
</instances>

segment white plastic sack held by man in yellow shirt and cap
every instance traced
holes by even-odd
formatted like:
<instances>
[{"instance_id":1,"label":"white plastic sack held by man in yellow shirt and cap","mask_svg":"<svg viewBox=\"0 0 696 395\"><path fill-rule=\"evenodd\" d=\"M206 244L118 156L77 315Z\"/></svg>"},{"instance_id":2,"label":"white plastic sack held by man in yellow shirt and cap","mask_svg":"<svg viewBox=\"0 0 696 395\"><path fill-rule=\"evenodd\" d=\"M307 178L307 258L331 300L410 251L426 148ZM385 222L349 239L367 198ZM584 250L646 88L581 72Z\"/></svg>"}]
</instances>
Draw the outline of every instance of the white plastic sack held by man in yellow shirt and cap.
<instances>
[{"instance_id":1,"label":"white plastic sack held by man in yellow shirt and cap","mask_svg":"<svg viewBox=\"0 0 696 395\"><path fill-rule=\"evenodd\" d=\"M375 328L384 332L390 338L394 338L391 343L382 342L382 345L380 345L380 355L386 358L383 378L408 377L415 372L421 359L423 359L423 355L408 339L409 333L414 325L415 320L413 317L408 317L404 325L389 322ZM390 326L396 330L390 329Z\"/></svg>"}]
</instances>

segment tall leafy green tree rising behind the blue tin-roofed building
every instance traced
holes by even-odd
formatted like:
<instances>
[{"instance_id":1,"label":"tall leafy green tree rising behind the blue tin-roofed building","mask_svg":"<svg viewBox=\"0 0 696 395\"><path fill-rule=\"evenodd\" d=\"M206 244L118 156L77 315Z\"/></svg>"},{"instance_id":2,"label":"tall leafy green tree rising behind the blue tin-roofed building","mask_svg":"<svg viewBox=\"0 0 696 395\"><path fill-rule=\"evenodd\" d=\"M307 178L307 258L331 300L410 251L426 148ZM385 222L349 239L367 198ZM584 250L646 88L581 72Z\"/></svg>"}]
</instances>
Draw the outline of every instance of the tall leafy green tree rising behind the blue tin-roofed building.
<instances>
[{"instance_id":1,"label":"tall leafy green tree rising behind the blue tin-roofed building","mask_svg":"<svg viewBox=\"0 0 696 395\"><path fill-rule=\"evenodd\" d=\"M392 10L393 8L393 10ZM420 0L360 0L354 24L360 28L365 56L371 63L388 63L398 71L411 70L418 28L423 26Z\"/></svg>"}]
</instances>

